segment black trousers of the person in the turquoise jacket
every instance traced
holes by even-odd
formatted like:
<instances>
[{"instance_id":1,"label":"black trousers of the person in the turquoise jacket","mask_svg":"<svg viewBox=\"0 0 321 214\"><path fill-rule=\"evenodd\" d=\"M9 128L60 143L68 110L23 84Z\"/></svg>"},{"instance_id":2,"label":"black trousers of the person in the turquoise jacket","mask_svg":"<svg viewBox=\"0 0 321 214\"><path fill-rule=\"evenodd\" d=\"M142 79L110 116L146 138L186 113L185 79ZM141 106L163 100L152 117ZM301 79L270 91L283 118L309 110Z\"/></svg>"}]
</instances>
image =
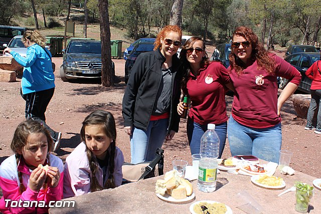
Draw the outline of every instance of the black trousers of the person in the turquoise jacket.
<instances>
[{"instance_id":1,"label":"black trousers of the person in the turquoise jacket","mask_svg":"<svg viewBox=\"0 0 321 214\"><path fill-rule=\"evenodd\" d=\"M49 131L51 137L54 142L58 138L58 132L52 130L46 124L46 116L45 112L47 110L47 106L54 95L55 88L50 88L47 90L36 91L32 93L23 94L22 90L20 90L21 96L26 100L26 119L32 119L38 121L43 124L44 127Z\"/></svg>"}]
</instances>

